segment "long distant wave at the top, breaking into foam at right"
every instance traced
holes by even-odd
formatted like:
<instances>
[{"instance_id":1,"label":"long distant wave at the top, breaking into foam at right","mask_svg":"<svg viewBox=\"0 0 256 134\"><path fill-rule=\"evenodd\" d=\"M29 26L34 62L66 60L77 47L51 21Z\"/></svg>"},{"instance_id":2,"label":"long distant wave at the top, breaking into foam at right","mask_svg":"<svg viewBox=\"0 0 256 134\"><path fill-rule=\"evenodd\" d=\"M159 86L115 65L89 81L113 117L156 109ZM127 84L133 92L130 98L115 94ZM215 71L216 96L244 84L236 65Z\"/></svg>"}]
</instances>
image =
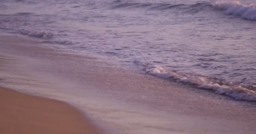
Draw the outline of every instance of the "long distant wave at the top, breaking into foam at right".
<instances>
[{"instance_id":1,"label":"long distant wave at the top, breaking into foam at right","mask_svg":"<svg viewBox=\"0 0 256 134\"><path fill-rule=\"evenodd\" d=\"M248 20L256 20L256 5L241 4L239 1L224 2L222 0L213 0L211 2L200 2L195 4L171 4L171 3L127 3L122 0L116 0L111 3L112 9L120 8L144 8L146 10L183 10L186 13L204 12L208 9L224 10L227 15L238 15ZM193 12L197 10L197 12ZM183 13L183 12L181 12Z\"/></svg>"}]
</instances>

